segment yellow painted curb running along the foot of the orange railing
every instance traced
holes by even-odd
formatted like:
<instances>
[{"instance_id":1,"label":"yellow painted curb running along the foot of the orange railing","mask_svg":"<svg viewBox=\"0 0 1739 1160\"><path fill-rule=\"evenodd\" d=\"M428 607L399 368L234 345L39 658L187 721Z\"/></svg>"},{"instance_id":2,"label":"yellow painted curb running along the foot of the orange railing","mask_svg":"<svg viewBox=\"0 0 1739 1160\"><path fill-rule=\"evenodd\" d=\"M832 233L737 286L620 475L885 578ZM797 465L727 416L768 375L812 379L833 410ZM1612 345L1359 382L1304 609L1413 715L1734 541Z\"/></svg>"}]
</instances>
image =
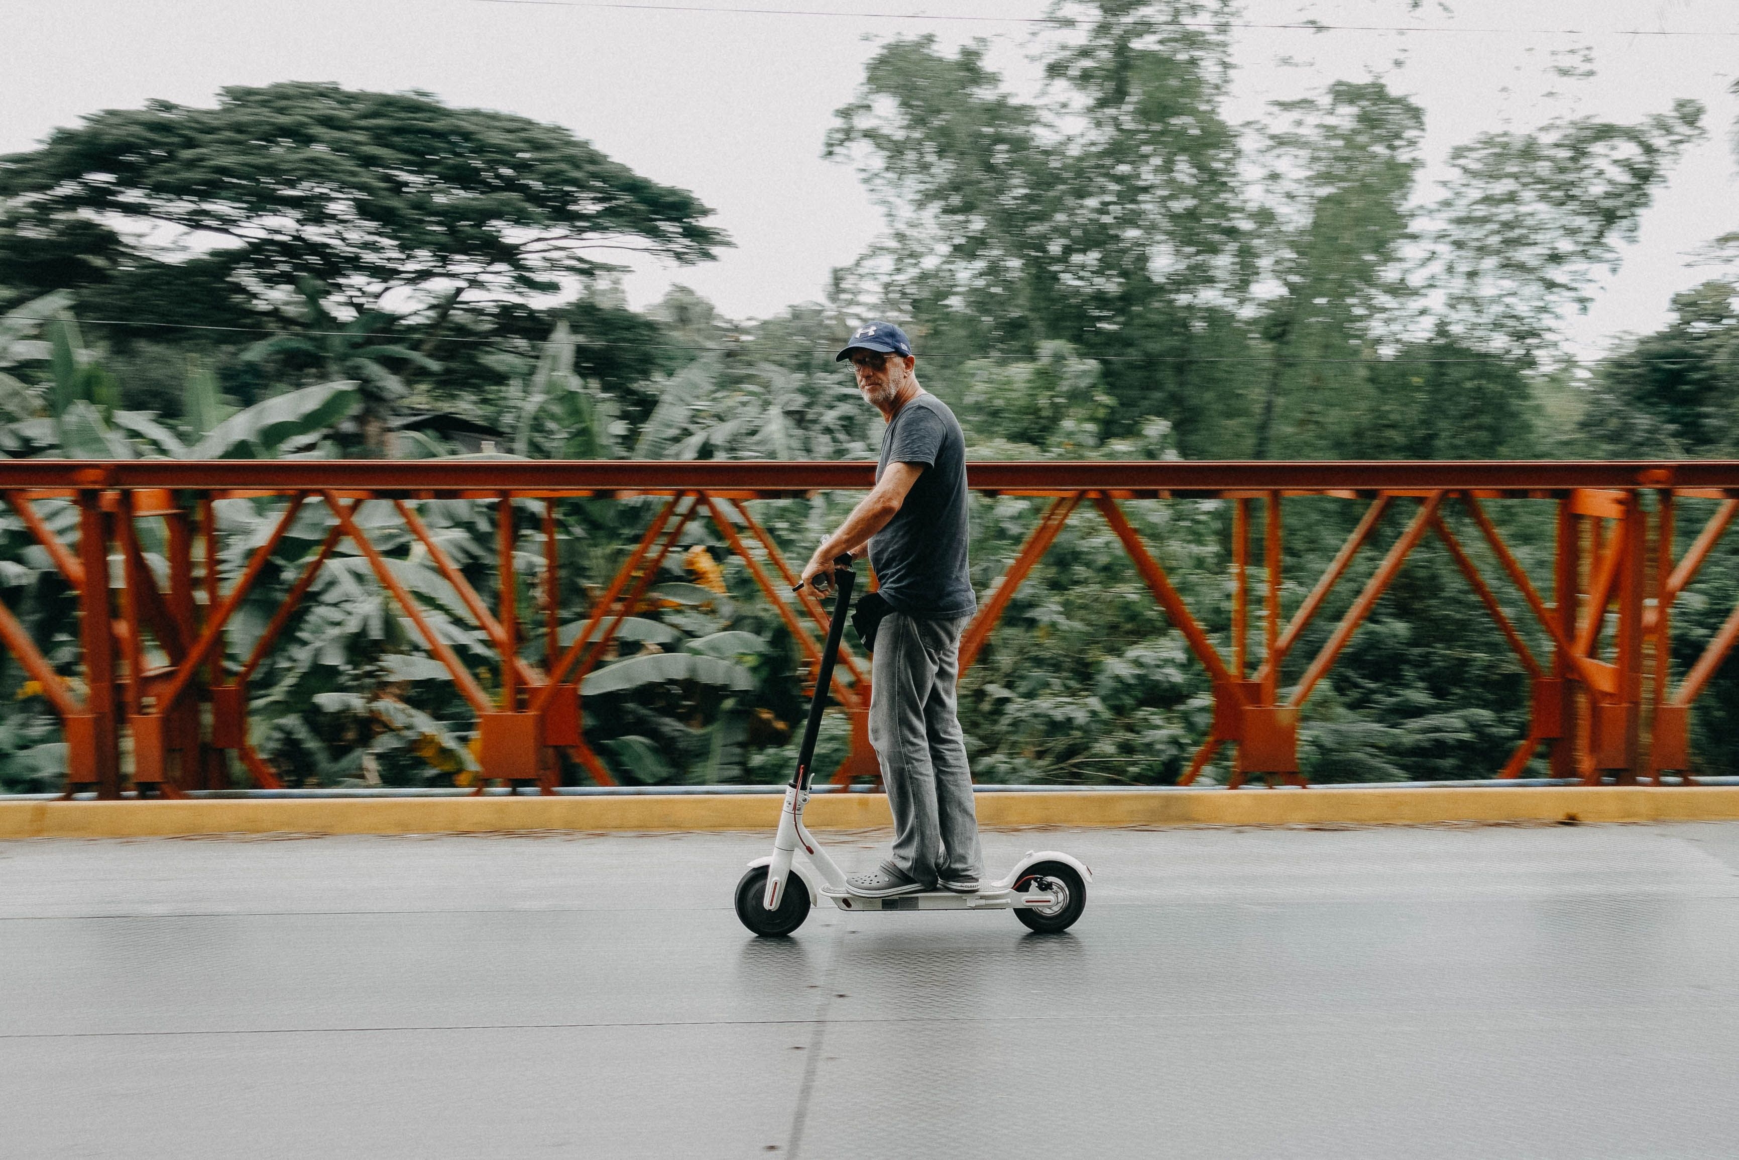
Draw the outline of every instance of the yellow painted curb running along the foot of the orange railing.
<instances>
[{"instance_id":1,"label":"yellow painted curb running along the foot of the orange railing","mask_svg":"<svg viewBox=\"0 0 1739 1160\"><path fill-rule=\"evenodd\" d=\"M1156 790L984 793L986 826L1296 826L1450 821L1730 821L1739 786L1469 790ZM503 830L772 830L774 795L254 798L0 802L0 838L144 838L202 833L485 833ZM816 830L890 824L878 793L821 795Z\"/></svg>"}]
</instances>

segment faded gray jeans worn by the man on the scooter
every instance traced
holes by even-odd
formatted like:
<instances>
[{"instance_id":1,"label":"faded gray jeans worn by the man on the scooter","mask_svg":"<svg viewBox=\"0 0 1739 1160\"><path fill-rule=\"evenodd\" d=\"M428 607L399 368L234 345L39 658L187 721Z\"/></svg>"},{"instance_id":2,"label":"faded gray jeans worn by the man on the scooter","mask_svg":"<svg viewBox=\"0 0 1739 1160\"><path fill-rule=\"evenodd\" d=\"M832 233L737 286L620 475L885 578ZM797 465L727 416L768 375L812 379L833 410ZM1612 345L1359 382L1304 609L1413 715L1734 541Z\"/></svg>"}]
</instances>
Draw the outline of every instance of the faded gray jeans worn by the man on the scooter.
<instances>
[{"instance_id":1,"label":"faded gray jeans worn by the man on the scooter","mask_svg":"<svg viewBox=\"0 0 1739 1160\"><path fill-rule=\"evenodd\" d=\"M889 864L925 885L937 877L953 882L979 875L972 770L955 715L967 619L889 612L875 640L870 744L894 810Z\"/></svg>"}]
</instances>

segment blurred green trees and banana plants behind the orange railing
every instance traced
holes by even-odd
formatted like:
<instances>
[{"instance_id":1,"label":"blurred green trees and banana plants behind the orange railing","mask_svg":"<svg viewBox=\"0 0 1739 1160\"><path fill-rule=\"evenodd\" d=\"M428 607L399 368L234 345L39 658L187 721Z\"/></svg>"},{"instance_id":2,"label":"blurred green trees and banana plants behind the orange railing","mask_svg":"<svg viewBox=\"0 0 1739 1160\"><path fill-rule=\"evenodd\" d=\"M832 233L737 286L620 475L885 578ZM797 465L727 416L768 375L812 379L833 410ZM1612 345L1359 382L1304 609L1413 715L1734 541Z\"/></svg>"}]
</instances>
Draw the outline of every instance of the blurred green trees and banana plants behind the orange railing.
<instances>
[{"instance_id":1,"label":"blurred green trees and banana plants behind the orange railing","mask_svg":"<svg viewBox=\"0 0 1739 1160\"><path fill-rule=\"evenodd\" d=\"M94 113L0 158L0 454L870 457L880 417L831 362L866 317L909 329L920 377L960 414L974 457L1739 454L1739 285L1725 273L1739 235L1711 240L1711 278L1673 301L1664 330L1596 365L1555 337L1680 151L1727 130L1702 123L1699 104L1480 134L1426 188L1424 115L1383 80L1229 123L1216 26L1228 3L1059 12L1075 28L1038 42L1049 83L1036 99L989 71L983 45L949 56L918 37L876 52L826 150L859 167L887 231L836 271L826 303L763 320L723 318L682 289L630 310L621 252L703 263L729 238L694 193L567 129L323 83ZM850 499L756 508L802 557ZM976 501L981 595L1036 503ZM1683 506L1689 530L1701 511ZM270 511L219 508L233 572ZM487 668L456 593L381 508L362 522L440 631ZM1224 638L1228 506L1129 508ZM1353 508L1289 503L1289 609ZM1544 577L1551 513L1499 508ZM71 510L42 511L73 532ZM426 503L423 515L494 591L492 513ZM264 630L325 518L306 511L283 541L231 650ZM633 501L562 504L563 638L645 518ZM534 527L530 510L522 525ZM588 680L590 737L631 783L783 779L798 652L711 529L685 536ZM527 532L515 583L529 610L541 569ZM75 673L75 600L10 513L0 595ZM1736 602L1739 550L1727 546L1676 605L1680 664ZM534 635L527 656L543 647ZM1525 713L1522 670L1428 541L1311 701L1301 757L1316 781L1485 777ZM1083 513L965 678L962 717L981 781L1156 784L1186 765L1210 701L1116 539ZM348 550L252 683L254 744L290 784L464 784L473 729ZM1706 772L1739 772L1736 730L1729 666L1697 711ZM57 788L57 736L38 690L0 659L0 788ZM819 760L843 744L830 722Z\"/></svg>"}]
</instances>

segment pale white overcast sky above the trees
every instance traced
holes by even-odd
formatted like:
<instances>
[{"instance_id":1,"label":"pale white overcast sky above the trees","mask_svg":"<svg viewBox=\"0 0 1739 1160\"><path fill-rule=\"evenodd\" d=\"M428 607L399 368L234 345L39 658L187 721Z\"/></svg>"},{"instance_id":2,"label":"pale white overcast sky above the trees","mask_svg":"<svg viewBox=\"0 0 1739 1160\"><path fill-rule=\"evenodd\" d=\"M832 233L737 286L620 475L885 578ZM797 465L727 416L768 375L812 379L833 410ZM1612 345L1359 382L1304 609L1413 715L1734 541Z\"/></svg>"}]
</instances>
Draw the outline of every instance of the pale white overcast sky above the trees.
<instances>
[{"instance_id":1,"label":"pale white overcast sky above the trees","mask_svg":"<svg viewBox=\"0 0 1739 1160\"><path fill-rule=\"evenodd\" d=\"M692 2L995 17L1047 9L1045 0ZM1245 19L1508 31L1242 30L1231 117L1259 118L1268 101L1383 73L1424 106L1438 177L1449 148L1483 129L1553 115L1629 120L1675 97L1701 99L1709 139L1675 170L1622 270L1565 334L1591 355L1614 334L1661 325L1669 296L1708 273L1689 266L1689 252L1739 230L1729 136L1739 99L1727 92L1739 71L1739 3L1452 0L1443 16L1443 5L1426 0L1414 16L1405 9L1405 0L1247 0ZM821 297L828 271L880 230L856 174L821 160L833 110L850 99L878 38L936 33L953 45L993 37L993 61L1017 83L1035 73L1031 26L1017 23L631 12L536 0L0 0L0 153L31 148L94 110L146 97L209 104L223 85L277 80L426 89L452 104L558 122L645 176L696 191L736 240L708 266L636 271L631 301L645 304L682 282L739 318ZM1548 28L1600 33L1527 31ZM1636 28L1729 35L1607 35ZM1553 50L1579 45L1593 50L1593 80L1548 73ZM1282 57L1294 63L1282 66ZM1551 90L1562 96L1548 97Z\"/></svg>"}]
</instances>

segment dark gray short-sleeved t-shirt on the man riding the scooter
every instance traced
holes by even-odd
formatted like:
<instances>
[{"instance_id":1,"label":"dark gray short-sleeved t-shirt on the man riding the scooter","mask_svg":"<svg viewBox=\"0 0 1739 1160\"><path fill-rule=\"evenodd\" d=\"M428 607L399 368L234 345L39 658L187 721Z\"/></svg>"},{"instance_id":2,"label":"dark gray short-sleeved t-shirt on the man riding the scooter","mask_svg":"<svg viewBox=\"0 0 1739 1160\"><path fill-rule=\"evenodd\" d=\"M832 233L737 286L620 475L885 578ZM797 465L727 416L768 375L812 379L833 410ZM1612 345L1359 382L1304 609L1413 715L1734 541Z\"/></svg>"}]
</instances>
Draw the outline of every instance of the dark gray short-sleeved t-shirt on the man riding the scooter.
<instances>
[{"instance_id":1,"label":"dark gray short-sleeved t-shirt on the man riding the scooter","mask_svg":"<svg viewBox=\"0 0 1739 1160\"><path fill-rule=\"evenodd\" d=\"M977 609L967 546L967 440L936 395L899 409L882 437L880 480L890 463L923 464L906 503L870 539L870 563L896 612L922 617L970 616Z\"/></svg>"}]
</instances>

